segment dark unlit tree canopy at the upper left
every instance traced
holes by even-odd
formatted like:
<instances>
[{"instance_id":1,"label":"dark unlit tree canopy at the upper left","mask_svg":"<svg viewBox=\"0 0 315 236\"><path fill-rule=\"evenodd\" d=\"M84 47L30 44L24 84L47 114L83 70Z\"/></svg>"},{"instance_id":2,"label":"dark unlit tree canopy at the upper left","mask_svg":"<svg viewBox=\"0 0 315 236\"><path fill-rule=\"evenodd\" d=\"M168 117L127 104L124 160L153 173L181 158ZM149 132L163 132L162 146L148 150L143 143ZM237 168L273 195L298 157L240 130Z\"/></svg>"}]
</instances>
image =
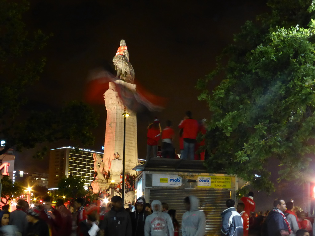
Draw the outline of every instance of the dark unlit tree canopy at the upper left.
<instances>
[{"instance_id":1,"label":"dark unlit tree canopy at the upper left","mask_svg":"<svg viewBox=\"0 0 315 236\"><path fill-rule=\"evenodd\" d=\"M54 112L26 108L24 92L43 71L45 59L36 55L48 39L41 31L26 31L22 15L27 9L27 2L0 0L0 139L6 141L0 155L11 147L20 151L60 139L91 145L90 129L97 125L97 117L87 105L72 102ZM43 154L40 151L37 157Z\"/></svg>"}]
</instances>

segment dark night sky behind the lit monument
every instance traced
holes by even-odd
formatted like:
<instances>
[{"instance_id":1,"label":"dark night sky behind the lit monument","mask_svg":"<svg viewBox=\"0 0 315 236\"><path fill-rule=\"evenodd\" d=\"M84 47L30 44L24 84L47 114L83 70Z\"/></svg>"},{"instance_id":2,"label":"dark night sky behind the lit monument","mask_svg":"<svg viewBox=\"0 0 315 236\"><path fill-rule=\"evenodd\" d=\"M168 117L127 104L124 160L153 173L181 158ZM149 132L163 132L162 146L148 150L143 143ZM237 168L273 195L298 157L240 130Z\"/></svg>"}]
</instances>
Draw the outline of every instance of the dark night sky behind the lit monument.
<instances>
[{"instance_id":1,"label":"dark night sky behind the lit monument","mask_svg":"<svg viewBox=\"0 0 315 236\"><path fill-rule=\"evenodd\" d=\"M146 126L154 116L162 127L166 120L173 121L175 132L186 110L198 120L210 117L205 103L197 99L196 81L214 69L215 57L246 20L268 10L266 0L30 2L25 18L29 30L54 34L42 51L47 57L42 78L27 94L32 106L54 109L83 100L89 70L100 66L113 70L112 58L120 39L128 46L135 83L169 98L163 112L137 116L139 157L145 155ZM88 148L100 150L106 109L104 104L93 107L100 124L94 132L95 145ZM68 144L59 142L50 148ZM23 158L27 163L17 161L16 167L47 171L48 159L32 160L31 151L17 154L17 160Z\"/></svg>"}]
</instances>

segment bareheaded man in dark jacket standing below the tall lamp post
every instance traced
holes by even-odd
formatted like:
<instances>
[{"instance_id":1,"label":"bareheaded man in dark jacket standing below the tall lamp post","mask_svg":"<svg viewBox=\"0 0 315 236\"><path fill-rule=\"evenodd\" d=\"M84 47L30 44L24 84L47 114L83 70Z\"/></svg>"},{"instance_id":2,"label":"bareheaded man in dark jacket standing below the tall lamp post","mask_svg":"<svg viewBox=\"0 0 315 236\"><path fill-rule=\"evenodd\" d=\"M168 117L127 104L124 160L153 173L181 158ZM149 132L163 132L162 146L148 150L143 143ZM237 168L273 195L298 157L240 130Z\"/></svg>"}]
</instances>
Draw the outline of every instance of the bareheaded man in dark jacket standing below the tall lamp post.
<instances>
[{"instance_id":1,"label":"bareheaded man in dark jacket standing below the tall lamp post","mask_svg":"<svg viewBox=\"0 0 315 236\"><path fill-rule=\"evenodd\" d=\"M112 209L105 213L100 229L107 236L132 236L131 219L123 207L123 199L116 195L111 202Z\"/></svg>"}]
</instances>

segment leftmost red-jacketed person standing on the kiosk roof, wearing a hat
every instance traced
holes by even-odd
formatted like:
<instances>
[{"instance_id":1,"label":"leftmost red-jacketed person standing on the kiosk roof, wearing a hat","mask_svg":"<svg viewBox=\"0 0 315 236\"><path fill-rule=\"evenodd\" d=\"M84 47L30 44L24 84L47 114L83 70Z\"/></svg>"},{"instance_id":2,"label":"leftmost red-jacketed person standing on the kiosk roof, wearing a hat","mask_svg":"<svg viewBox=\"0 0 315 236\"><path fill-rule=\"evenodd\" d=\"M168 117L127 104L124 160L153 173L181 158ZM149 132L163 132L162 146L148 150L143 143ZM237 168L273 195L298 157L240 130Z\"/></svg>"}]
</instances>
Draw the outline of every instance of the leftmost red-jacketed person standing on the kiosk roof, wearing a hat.
<instances>
[{"instance_id":1,"label":"leftmost red-jacketed person standing on the kiosk roof, wearing a hat","mask_svg":"<svg viewBox=\"0 0 315 236\"><path fill-rule=\"evenodd\" d=\"M148 126L148 133L146 135L146 160L149 160L151 150L153 150L153 157L157 157L157 144L161 138L161 126L160 121L155 118L154 122Z\"/></svg>"}]
</instances>

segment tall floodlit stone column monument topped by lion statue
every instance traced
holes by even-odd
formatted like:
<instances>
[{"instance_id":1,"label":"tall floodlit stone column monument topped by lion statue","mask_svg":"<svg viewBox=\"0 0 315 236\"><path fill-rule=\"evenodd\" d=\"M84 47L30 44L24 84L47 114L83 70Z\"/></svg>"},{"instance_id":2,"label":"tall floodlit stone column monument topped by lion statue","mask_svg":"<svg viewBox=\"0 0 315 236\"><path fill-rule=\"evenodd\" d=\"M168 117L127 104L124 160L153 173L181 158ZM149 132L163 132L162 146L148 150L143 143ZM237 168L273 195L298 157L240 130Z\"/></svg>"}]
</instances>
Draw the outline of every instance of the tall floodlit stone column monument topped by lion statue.
<instances>
[{"instance_id":1,"label":"tall floodlit stone column monument topped by lion statue","mask_svg":"<svg viewBox=\"0 0 315 236\"><path fill-rule=\"evenodd\" d=\"M103 162L104 170L111 171L112 180L115 183L120 183L120 174L123 169L124 119L122 114L125 111L130 114L126 118L125 173L135 174L136 172L132 168L138 164L137 114L124 106L115 86L116 83L131 90L136 90L136 85L134 84L135 73L129 62L129 53L124 40L120 41L120 47L113 58L113 63L117 70L116 77L118 80L110 82L109 88L104 94L107 119Z\"/></svg>"}]
</instances>

